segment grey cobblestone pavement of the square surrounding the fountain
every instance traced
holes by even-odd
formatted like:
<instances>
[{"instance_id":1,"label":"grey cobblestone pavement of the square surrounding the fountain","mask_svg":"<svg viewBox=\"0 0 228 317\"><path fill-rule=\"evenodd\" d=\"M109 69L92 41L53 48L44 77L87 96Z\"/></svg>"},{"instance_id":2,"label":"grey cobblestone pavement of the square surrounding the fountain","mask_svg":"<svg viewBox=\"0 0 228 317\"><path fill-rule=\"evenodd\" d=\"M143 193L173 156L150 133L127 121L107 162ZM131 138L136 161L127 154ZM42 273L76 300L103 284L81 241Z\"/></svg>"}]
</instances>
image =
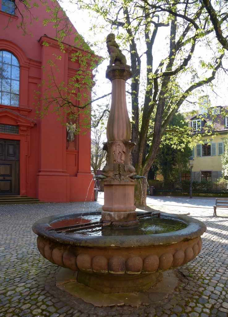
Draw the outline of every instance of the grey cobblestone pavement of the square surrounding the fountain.
<instances>
[{"instance_id":1,"label":"grey cobblestone pavement of the square surrounding the fountain","mask_svg":"<svg viewBox=\"0 0 228 317\"><path fill-rule=\"evenodd\" d=\"M0 206L0 317L207 317L228 316L228 215L218 210L212 217L215 198L151 197L155 209L185 213L203 221L201 253L176 270L179 285L161 302L130 306L94 307L55 286L60 268L45 260L37 250L32 224L47 215L81 211L84 203ZM98 202L85 210L100 209Z\"/></svg>"}]
</instances>

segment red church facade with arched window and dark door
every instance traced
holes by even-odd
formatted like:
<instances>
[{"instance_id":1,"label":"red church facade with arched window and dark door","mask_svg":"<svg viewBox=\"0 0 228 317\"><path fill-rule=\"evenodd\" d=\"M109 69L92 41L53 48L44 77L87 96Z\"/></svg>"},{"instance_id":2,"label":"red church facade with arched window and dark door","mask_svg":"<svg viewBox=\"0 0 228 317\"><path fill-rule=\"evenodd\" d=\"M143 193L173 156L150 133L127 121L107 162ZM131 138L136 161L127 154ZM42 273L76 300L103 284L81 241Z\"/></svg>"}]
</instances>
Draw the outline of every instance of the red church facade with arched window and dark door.
<instances>
[{"instance_id":1,"label":"red church facade with arched window and dark door","mask_svg":"<svg viewBox=\"0 0 228 317\"><path fill-rule=\"evenodd\" d=\"M48 5L53 4L49 1ZM79 61L69 58L72 53L85 53L74 46L77 31L71 25L71 36L66 36L61 51L56 29L51 23L43 24L45 16L50 15L46 6L40 4L39 9L30 10L24 20L26 35L18 27L23 2L0 0L0 10L0 196L27 195L45 202L85 201L92 180L90 131L84 134L82 129L69 142L66 123L72 120L66 116L63 125L51 112L37 118L34 98L35 91L43 97L50 89L47 62L54 56L61 55L55 61L57 85L67 82L79 69ZM37 21L29 23L34 16ZM90 95L80 88L76 93ZM73 123L79 124L80 116L83 114ZM87 200L91 200L92 187Z\"/></svg>"}]
</instances>

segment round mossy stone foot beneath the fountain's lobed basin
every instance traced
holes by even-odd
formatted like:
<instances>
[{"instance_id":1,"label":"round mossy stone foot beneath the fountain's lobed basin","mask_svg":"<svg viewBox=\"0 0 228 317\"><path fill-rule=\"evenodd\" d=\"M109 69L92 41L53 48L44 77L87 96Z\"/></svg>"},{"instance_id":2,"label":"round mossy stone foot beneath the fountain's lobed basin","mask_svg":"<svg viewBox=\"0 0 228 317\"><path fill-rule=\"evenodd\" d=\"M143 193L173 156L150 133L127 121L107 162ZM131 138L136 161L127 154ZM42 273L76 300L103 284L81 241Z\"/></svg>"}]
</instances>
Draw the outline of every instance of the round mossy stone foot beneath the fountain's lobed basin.
<instances>
[{"instance_id":1,"label":"round mossy stone foot beneath the fountain's lobed basin","mask_svg":"<svg viewBox=\"0 0 228 317\"><path fill-rule=\"evenodd\" d=\"M115 278L116 277L116 278ZM127 275L94 275L78 272L77 282L104 294L144 292L162 280L162 273Z\"/></svg>"}]
</instances>

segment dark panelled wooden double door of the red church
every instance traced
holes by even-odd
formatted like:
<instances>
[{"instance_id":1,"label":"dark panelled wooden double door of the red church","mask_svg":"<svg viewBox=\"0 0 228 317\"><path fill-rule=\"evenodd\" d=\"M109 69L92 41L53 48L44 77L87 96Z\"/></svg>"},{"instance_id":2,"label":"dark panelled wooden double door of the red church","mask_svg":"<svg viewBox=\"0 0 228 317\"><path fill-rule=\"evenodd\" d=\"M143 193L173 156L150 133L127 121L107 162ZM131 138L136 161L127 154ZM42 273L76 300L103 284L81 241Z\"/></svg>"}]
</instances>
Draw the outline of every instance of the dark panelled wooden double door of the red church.
<instances>
[{"instance_id":1,"label":"dark panelled wooden double door of the red church","mask_svg":"<svg viewBox=\"0 0 228 317\"><path fill-rule=\"evenodd\" d=\"M20 141L0 139L0 196L19 195Z\"/></svg>"}]
</instances>

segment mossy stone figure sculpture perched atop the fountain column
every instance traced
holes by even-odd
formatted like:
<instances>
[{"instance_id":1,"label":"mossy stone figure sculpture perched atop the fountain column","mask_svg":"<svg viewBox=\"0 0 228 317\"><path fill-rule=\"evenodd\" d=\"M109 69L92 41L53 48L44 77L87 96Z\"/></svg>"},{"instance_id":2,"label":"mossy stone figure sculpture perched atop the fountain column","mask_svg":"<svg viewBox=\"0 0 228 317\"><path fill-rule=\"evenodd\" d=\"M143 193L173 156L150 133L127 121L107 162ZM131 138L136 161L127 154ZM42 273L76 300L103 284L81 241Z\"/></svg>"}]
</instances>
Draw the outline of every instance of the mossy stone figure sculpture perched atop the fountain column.
<instances>
[{"instance_id":1,"label":"mossy stone figure sculpture perched atop the fountain column","mask_svg":"<svg viewBox=\"0 0 228 317\"><path fill-rule=\"evenodd\" d=\"M106 43L107 43L107 49L108 49L108 52L110 55L109 66L111 66L113 64L118 64L119 62L120 62L120 64L127 65L126 57L121 52L121 50L119 49L119 45L115 41L115 34L110 33L106 37Z\"/></svg>"}]
</instances>

